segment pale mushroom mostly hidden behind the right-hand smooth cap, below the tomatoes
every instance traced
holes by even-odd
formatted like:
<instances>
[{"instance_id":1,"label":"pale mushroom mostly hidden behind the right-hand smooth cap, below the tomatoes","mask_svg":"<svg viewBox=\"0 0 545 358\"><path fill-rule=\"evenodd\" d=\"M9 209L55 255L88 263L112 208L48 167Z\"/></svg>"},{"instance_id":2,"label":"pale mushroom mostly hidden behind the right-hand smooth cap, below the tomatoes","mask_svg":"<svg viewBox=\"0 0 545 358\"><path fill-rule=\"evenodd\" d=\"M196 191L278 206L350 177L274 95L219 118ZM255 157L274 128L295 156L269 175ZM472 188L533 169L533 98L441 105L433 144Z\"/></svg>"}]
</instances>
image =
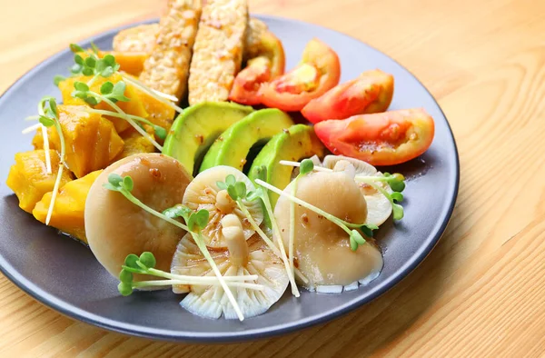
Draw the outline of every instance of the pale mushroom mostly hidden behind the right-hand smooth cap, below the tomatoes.
<instances>
[{"instance_id":1,"label":"pale mushroom mostly hidden behind the right-hand smooth cap, below the tomatoes","mask_svg":"<svg viewBox=\"0 0 545 358\"><path fill-rule=\"evenodd\" d=\"M335 164L340 161L347 161L352 164L356 169L356 175L383 176L383 174L377 171L377 169L371 164L342 155L326 155L326 157L323 158L322 166L325 168L333 169L335 167ZM388 184L380 182L377 182L376 184L381 185L384 190L392 193L391 188ZM360 186L360 190L365 196L365 201L367 202L367 219L365 221L365 224L373 224L377 226L384 224L384 222L391 215L390 201L384 195L372 188L370 185L362 183L359 183L358 185Z\"/></svg>"}]
</instances>

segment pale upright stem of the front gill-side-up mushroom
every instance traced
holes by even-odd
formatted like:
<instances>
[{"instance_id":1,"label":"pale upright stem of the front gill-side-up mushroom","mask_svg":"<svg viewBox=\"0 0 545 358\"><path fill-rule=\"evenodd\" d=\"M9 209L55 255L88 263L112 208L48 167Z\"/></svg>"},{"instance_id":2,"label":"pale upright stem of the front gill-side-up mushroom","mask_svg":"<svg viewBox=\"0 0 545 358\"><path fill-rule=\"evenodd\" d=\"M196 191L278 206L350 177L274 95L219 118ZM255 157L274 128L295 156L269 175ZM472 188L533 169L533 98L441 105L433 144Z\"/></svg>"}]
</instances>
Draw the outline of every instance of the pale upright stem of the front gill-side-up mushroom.
<instances>
[{"instance_id":1,"label":"pale upright stem of the front gill-side-up mushroom","mask_svg":"<svg viewBox=\"0 0 545 358\"><path fill-rule=\"evenodd\" d=\"M248 264L248 244L244 238L243 224L235 214L225 215L222 219L222 234L227 241L229 261L234 266Z\"/></svg>"}]
</instances>

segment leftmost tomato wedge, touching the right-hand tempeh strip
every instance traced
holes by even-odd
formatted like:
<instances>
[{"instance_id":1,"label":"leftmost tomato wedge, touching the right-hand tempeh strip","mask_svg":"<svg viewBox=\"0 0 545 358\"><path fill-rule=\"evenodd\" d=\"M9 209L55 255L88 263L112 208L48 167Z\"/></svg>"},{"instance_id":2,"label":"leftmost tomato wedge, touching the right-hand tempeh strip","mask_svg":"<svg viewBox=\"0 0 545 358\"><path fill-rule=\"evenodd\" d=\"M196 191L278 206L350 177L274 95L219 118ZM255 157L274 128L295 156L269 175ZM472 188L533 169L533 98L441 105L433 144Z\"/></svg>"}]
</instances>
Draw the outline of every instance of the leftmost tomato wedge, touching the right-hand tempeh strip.
<instances>
[{"instance_id":1,"label":"leftmost tomato wedge, touching the right-hand tempeh strip","mask_svg":"<svg viewBox=\"0 0 545 358\"><path fill-rule=\"evenodd\" d=\"M246 67L234 78L229 100L239 104L261 104L259 88L264 83L283 75L285 55L282 42L266 32L260 37L259 51L248 60Z\"/></svg>"}]
</instances>

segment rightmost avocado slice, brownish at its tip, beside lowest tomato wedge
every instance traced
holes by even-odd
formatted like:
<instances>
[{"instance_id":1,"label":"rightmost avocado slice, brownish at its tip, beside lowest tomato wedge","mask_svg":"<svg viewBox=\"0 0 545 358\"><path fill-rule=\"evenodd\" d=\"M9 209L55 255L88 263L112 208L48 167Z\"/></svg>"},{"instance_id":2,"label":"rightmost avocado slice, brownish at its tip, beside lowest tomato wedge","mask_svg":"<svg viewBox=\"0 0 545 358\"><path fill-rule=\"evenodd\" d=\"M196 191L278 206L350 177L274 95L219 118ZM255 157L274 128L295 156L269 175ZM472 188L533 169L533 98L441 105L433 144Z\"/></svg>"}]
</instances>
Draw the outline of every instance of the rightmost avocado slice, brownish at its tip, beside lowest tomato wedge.
<instances>
[{"instance_id":1,"label":"rightmost avocado slice, brownish at its tip, beside lowest tomato wedge","mask_svg":"<svg viewBox=\"0 0 545 358\"><path fill-rule=\"evenodd\" d=\"M252 181L255 180L258 177L257 168L264 165L267 168L267 183L283 190L292 181L293 168L280 164L281 160L299 162L312 155L322 157L324 151L325 147L314 134L312 126L295 124L287 131L274 135L269 143L265 144L253 160L248 176ZM272 207L276 204L278 196L269 191Z\"/></svg>"}]
</instances>

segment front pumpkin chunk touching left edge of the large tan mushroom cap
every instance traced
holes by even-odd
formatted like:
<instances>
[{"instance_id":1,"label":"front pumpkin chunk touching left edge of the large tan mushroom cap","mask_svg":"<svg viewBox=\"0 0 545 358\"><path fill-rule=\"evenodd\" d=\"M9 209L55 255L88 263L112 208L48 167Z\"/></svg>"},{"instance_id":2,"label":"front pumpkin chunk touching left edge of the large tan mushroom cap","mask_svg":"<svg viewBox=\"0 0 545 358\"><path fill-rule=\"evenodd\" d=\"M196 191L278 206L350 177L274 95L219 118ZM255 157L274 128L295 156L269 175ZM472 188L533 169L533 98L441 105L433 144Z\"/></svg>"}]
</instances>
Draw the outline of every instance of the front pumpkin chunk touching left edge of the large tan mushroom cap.
<instances>
[{"instance_id":1,"label":"front pumpkin chunk touching left edge of the large tan mushroom cap","mask_svg":"<svg viewBox=\"0 0 545 358\"><path fill-rule=\"evenodd\" d=\"M54 201L53 214L49 222L50 226L74 236L85 244L87 243L84 224L85 200L87 200L91 185L98 174L101 173L102 170L97 170L61 187ZM32 211L36 220L42 223L45 223L52 194L53 192L46 193Z\"/></svg>"}]
</instances>

